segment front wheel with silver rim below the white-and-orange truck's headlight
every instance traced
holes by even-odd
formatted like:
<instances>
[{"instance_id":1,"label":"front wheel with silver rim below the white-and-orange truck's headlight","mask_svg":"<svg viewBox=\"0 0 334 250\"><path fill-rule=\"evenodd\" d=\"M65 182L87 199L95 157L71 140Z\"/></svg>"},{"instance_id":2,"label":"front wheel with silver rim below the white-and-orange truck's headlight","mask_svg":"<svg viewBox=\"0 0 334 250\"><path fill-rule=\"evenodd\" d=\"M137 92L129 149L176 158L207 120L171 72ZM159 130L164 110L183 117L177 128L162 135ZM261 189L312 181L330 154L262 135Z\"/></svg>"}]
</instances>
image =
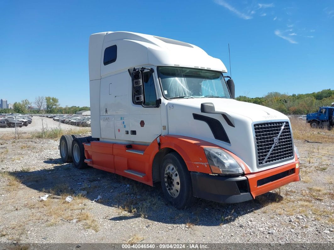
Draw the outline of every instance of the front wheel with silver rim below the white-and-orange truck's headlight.
<instances>
[{"instance_id":1,"label":"front wheel with silver rim below the white-and-orange truck's headlight","mask_svg":"<svg viewBox=\"0 0 334 250\"><path fill-rule=\"evenodd\" d=\"M160 181L165 199L177 209L190 207L194 203L189 171L182 157L176 152L164 157Z\"/></svg>"}]
</instances>

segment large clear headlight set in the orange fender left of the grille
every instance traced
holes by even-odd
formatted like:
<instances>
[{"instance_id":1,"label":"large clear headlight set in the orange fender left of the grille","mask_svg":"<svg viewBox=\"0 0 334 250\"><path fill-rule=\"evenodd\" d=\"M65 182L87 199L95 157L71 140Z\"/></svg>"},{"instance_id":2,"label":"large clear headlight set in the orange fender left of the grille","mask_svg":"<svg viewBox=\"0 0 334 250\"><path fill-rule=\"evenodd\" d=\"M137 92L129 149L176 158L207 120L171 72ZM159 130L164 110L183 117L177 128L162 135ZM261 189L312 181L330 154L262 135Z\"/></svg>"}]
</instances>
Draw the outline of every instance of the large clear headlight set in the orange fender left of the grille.
<instances>
[{"instance_id":1,"label":"large clear headlight set in the orange fender left of the grille","mask_svg":"<svg viewBox=\"0 0 334 250\"><path fill-rule=\"evenodd\" d=\"M240 165L227 152L217 148L204 148L204 152L212 173L224 175L240 175Z\"/></svg>"}]
</instances>

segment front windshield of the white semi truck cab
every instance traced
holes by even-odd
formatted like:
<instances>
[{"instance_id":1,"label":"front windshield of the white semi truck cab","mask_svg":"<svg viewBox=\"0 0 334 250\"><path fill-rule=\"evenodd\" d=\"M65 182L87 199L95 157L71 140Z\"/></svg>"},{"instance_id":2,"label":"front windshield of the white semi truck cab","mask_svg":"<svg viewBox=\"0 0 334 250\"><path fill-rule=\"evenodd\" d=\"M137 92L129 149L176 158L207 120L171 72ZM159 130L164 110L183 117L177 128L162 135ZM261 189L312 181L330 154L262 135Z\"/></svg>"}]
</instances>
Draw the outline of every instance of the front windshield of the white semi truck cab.
<instances>
[{"instance_id":1,"label":"front windshield of the white semi truck cab","mask_svg":"<svg viewBox=\"0 0 334 250\"><path fill-rule=\"evenodd\" d=\"M158 67L158 73L162 92L168 99L231 98L221 72L195 68Z\"/></svg>"}]
</instances>

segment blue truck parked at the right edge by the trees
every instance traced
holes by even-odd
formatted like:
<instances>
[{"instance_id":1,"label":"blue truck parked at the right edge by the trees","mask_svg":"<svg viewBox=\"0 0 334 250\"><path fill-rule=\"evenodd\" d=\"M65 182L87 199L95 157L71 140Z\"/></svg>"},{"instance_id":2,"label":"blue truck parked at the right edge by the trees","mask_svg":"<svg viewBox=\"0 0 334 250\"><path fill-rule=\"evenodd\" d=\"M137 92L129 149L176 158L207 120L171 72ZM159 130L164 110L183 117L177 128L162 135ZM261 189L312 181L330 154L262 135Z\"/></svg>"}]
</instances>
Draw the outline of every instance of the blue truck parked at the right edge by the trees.
<instances>
[{"instance_id":1,"label":"blue truck parked at the right edge by the trees","mask_svg":"<svg viewBox=\"0 0 334 250\"><path fill-rule=\"evenodd\" d=\"M310 123L311 128L327 128L331 130L334 126L334 106L319 107L316 113L306 115L307 123Z\"/></svg>"}]
</instances>

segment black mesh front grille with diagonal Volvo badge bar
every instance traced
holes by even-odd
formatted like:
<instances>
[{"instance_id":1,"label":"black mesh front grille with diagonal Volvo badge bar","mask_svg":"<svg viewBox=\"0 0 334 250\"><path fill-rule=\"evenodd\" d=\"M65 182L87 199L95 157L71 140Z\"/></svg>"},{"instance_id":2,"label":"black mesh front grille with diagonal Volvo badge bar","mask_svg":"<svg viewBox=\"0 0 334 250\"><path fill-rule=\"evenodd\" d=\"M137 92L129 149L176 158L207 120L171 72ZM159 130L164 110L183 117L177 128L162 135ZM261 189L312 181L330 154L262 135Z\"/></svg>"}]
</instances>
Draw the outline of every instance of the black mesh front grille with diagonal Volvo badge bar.
<instances>
[{"instance_id":1,"label":"black mesh front grille with diagonal Volvo badge bar","mask_svg":"<svg viewBox=\"0 0 334 250\"><path fill-rule=\"evenodd\" d=\"M284 123L285 126L280 137L278 138L278 144L275 145L269 154L275 144L274 140L278 137ZM275 163L294 156L294 145L288 121L257 123L254 124L254 132L259 166L266 165L268 163ZM269 156L265 161L268 154Z\"/></svg>"}]
</instances>

